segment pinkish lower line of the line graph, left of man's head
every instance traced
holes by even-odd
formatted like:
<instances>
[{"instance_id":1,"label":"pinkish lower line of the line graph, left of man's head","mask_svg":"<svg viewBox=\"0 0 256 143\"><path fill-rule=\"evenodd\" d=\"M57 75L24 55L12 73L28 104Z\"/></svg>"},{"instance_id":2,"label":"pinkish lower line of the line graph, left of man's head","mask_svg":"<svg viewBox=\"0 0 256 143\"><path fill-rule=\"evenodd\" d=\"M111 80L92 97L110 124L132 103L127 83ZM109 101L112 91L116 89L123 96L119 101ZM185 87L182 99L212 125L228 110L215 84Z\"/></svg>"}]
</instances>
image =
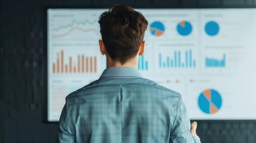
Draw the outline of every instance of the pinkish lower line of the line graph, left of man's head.
<instances>
[{"instance_id":1,"label":"pinkish lower line of the line graph, left of man's head","mask_svg":"<svg viewBox=\"0 0 256 143\"><path fill-rule=\"evenodd\" d=\"M57 35L53 35L53 39L55 39L55 38L63 38L63 37L65 37L65 36L68 36L68 35L70 35L72 32L74 32L75 30L81 31L81 32L83 32L83 33L93 32L93 33L95 33L97 36L99 36L98 31L97 31L96 29L94 29L94 28L84 29L84 28L82 28L82 27L75 26L75 27L72 27L71 29L69 29L68 32L61 33L61 34L57 34Z\"/></svg>"}]
</instances>

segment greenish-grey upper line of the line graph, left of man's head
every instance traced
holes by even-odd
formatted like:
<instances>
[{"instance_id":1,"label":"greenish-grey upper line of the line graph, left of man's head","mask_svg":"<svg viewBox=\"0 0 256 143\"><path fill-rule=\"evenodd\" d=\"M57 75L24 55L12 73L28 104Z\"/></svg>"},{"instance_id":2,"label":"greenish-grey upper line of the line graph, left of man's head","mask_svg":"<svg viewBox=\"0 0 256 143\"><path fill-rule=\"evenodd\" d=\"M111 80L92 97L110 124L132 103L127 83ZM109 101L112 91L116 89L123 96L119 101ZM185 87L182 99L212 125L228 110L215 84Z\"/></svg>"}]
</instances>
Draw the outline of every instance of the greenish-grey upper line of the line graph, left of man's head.
<instances>
[{"instance_id":1,"label":"greenish-grey upper line of the line graph, left of man's head","mask_svg":"<svg viewBox=\"0 0 256 143\"><path fill-rule=\"evenodd\" d=\"M89 21L89 20L81 20L81 21L72 20L71 23L68 23L68 24L65 24L65 25L53 28L53 31L57 32L60 29L67 29L69 27L74 26L75 24L77 24L77 25L86 25L86 24L95 24L95 23L97 23L97 19L95 19L93 21Z\"/></svg>"}]
</instances>

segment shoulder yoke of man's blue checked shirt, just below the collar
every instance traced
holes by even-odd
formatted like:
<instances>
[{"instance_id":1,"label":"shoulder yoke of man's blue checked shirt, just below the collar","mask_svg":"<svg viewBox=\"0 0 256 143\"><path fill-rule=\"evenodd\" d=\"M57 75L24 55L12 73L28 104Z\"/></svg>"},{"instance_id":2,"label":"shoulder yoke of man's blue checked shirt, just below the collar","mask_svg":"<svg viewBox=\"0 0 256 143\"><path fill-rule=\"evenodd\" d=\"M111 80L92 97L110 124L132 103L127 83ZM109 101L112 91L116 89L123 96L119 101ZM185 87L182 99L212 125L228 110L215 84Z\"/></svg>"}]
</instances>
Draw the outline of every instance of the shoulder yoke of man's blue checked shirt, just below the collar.
<instances>
[{"instance_id":1,"label":"shoulder yoke of man's blue checked shirt, just below the collar","mask_svg":"<svg viewBox=\"0 0 256 143\"><path fill-rule=\"evenodd\" d=\"M159 94L164 94L167 96L179 98L181 95L173 91L172 89L166 88L159 85L150 79L145 79L143 77L129 77L129 78L118 78L118 77L107 77L97 79L83 88L72 92L66 97L68 99L74 99L76 97L97 94L97 92L115 91L119 89L120 86L130 87L130 89L138 89L144 91L154 91L159 92Z\"/></svg>"}]
</instances>

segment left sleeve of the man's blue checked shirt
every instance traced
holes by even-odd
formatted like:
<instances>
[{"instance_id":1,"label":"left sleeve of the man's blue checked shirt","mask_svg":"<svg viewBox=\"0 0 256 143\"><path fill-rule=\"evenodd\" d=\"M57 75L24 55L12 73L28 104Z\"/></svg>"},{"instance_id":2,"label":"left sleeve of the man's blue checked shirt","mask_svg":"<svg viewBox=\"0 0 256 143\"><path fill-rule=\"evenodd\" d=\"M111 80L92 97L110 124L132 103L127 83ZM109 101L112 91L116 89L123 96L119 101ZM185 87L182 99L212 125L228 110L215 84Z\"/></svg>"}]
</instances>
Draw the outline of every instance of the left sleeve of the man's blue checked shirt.
<instances>
[{"instance_id":1,"label":"left sleeve of the man's blue checked shirt","mask_svg":"<svg viewBox=\"0 0 256 143\"><path fill-rule=\"evenodd\" d=\"M58 142L75 142L75 133L72 129L67 104L64 105L60 115L58 140Z\"/></svg>"}]
</instances>

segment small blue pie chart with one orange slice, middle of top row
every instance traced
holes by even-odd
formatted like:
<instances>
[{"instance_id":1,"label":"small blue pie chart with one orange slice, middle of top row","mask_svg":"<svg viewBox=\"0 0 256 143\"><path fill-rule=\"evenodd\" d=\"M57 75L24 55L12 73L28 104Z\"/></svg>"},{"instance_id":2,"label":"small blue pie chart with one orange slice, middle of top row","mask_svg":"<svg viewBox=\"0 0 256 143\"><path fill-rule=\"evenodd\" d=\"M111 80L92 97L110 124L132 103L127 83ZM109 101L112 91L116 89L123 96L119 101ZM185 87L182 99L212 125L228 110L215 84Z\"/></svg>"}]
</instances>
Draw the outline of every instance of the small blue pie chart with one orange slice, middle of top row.
<instances>
[{"instance_id":1,"label":"small blue pie chart with one orange slice, middle of top row","mask_svg":"<svg viewBox=\"0 0 256 143\"><path fill-rule=\"evenodd\" d=\"M188 21L181 21L177 25L179 35L187 36L192 32L192 25Z\"/></svg>"}]
</instances>

